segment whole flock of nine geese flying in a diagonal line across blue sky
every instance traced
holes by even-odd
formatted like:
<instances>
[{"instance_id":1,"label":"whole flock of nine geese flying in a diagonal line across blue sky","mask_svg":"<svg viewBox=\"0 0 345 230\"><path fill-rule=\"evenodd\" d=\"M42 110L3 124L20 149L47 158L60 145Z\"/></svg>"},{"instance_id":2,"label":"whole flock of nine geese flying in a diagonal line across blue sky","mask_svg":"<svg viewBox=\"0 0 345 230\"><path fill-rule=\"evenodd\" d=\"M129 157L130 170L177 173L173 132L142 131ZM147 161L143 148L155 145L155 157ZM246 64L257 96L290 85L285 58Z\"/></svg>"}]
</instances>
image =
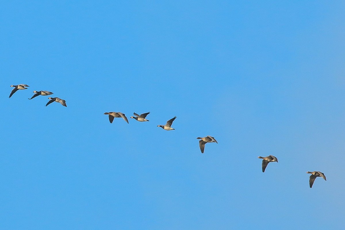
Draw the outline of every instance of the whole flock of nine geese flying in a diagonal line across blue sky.
<instances>
[{"instance_id":1,"label":"whole flock of nine geese flying in a diagonal line across blue sky","mask_svg":"<svg viewBox=\"0 0 345 230\"><path fill-rule=\"evenodd\" d=\"M19 85L16 85L16 86L12 85L11 87L14 87L14 89L11 91L9 98L11 98L12 95L15 92L17 92L18 90L27 89L27 87L29 87L29 86L27 84L19 84ZM31 98L28 98L29 100L31 100L31 99L33 99L33 98L35 98L37 96L40 96L40 95L48 96L48 95L53 94L50 91L36 91L36 90L33 91L33 93L35 93L35 94L33 94L33 96ZM61 98L57 98L57 97L51 98L51 97L49 97L48 99L50 99L50 100L47 102L46 106L48 106L52 102L56 101L56 102L59 102L60 104L62 104L62 106L67 107L66 101L61 99ZM133 115L135 117L132 116L130 118L133 118L133 119L135 119L137 121L140 121L140 122L149 121L149 120L146 119L146 117L147 117L147 115L149 113L150 112L142 113L140 115L137 114L137 113L133 113ZM128 119L127 119L127 117L125 116L124 113L121 113L121 112L105 112L104 114L109 116L110 123L112 123L114 121L114 118L123 118L127 123L129 123ZM160 124L157 127L161 127L162 129L167 130L167 131L175 130L174 128L171 128L172 122L174 122L175 119L176 119L176 116L171 118L170 120L168 120L165 125ZM211 137L211 136L197 137L196 139L200 139L199 140L199 147L200 147L201 153L204 153L205 144L206 143L216 142L218 144L217 140L214 137ZM272 155L269 155L267 157L258 157L258 158L262 159L262 172L265 172L265 169L266 169L266 167L267 167L269 162L278 162L278 159L275 156L272 156ZM311 174L310 177L309 177L309 187L310 188L312 188L313 183L314 183L314 181L315 181L315 179L317 177L322 177L324 180L326 180L325 174L323 174L322 172L319 172L319 171L309 172L308 171L307 173Z\"/></svg>"}]
</instances>

